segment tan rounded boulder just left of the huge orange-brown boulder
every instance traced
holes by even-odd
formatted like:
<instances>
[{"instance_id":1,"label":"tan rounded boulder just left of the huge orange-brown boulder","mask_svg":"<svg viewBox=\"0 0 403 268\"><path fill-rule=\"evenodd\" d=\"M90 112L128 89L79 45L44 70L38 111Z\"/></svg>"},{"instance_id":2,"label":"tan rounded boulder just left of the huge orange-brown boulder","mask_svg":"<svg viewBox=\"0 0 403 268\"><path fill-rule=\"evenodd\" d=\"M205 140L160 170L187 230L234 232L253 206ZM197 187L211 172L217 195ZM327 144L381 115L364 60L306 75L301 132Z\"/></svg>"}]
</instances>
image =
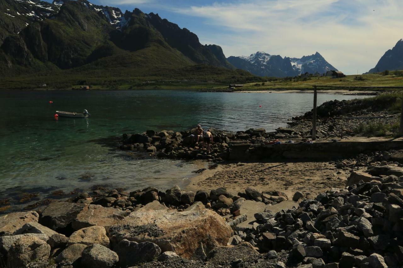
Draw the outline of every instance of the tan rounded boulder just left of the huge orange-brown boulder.
<instances>
[{"instance_id":1,"label":"tan rounded boulder just left of the huge orange-brown boulder","mask_svg":"<svg viewBox=\"0 0 403 268\"><path fill-rule=\"evenodd\" d=\"M100 244L105 247L109 247L109 238L106 236L106 230L104 227L91 226L72 233L70 235L68 245L72 244Z\"/></svg>"}]
</instances>

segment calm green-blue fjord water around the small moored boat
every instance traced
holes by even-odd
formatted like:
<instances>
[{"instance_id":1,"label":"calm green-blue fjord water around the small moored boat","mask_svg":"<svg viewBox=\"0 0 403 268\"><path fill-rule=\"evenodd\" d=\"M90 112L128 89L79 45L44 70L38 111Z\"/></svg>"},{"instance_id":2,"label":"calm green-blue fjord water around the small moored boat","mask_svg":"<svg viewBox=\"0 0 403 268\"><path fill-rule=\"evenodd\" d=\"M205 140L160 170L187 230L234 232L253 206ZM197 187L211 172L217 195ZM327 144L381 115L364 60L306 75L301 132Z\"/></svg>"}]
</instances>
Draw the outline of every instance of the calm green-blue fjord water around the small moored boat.
<instances>
[{"instance_id":1,"label":"calm green-blue fjord water around the small moored boat","mask_svg":"<svg viewBox=\"0 0 403 268\"><path fill-rule=\"evenodd\" d=\"M356 97L318 94L318 103ZM2 91L0 107L0 195L44 196L96 184L129 189L184 186L191 171L206 163L136 159L96 140L148 129L187 130L198 123L234 132L260 127L271 131L312 109L312 94ZM90 118L54 119L56 110L83 109Z\"/></svg>"}]
</instances>

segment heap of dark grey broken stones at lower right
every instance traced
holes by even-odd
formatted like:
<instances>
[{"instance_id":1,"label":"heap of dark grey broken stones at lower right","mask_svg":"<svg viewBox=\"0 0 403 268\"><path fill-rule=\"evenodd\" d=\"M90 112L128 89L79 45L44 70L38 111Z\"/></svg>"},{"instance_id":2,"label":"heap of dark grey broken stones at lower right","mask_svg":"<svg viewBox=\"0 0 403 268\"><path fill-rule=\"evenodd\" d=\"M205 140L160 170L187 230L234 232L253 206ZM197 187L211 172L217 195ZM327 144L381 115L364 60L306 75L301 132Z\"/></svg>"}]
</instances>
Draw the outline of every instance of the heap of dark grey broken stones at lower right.
<instances>
[{"instance_id":1,"label":"heap of dark grey broken stones at lower right","mask_svg":"<svg viewBox=\"0 0 403 268\"><path fill-rule=\"evenodd\" d=\"M296 193L294 200L302 198ZM241 241L260 252L290 252L299 267L381 268L403 265L403 177L371 177L331 189L297 208L255 214ZM236 244L236 242L235 242Z\"/></svg>"}]
</instances>

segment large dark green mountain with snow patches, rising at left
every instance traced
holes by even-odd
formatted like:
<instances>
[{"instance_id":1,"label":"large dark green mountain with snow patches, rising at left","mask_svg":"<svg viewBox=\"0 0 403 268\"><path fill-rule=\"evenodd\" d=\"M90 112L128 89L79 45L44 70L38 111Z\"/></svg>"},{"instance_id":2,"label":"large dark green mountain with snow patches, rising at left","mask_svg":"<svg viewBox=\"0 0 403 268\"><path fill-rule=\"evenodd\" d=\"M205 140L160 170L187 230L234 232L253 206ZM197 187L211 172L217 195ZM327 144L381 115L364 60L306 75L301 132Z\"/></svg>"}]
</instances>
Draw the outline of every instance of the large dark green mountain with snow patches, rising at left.
<instances>
[{"instance_id":1,"label":"large dark green mountain with snow patches, rising at left","mask_svg":"<svg viewBox=\"0 0 403 268\"><path fill-rule=\"evenodd\" d=\"M123 13L87 0L0 2L0 74L104 76L106 70L108 76L144 79L195 74L225 82L262 80L236 70L220 46L202 45L197 35L158 14L137 8Z\"/></svg>"}]
</instances>

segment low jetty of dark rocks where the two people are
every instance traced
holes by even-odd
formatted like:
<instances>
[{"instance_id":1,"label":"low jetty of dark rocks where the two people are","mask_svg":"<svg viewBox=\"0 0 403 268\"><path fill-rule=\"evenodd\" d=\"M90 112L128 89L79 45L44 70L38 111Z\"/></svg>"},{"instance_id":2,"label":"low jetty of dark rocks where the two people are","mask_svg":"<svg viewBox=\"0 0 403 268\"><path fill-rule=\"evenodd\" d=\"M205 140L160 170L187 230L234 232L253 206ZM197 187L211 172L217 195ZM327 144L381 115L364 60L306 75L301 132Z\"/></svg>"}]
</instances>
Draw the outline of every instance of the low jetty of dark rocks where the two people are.
<instances>
[{"instance_id":1,"label":"low jetty of dark rocks where the two people are","mask_svg":"<svg viewBox=\"0 0 403 268\"><path fill-rule=\"evenodd\" d=\"M207 148L201 146L202 140L199 140L199 144L195 144L195 138L191 136L195 134L194 131L173 132L172 130L163 130L156 132L147 130L141 134L123 134L123 141L119 148L134 152L146 152L158 158L203 159L221 162L229 158L233 143L262 144L274 139L290 140L301 139L303 138L301 135L307 136L306 133L290 128L278 128L274 132L266 132L264 128L250 128L235 134L212 128L214 143L211 145L212 151L208 153ZM324 137L324 134L318 132L318 137Z\"/></svg>"}]
</instances>

